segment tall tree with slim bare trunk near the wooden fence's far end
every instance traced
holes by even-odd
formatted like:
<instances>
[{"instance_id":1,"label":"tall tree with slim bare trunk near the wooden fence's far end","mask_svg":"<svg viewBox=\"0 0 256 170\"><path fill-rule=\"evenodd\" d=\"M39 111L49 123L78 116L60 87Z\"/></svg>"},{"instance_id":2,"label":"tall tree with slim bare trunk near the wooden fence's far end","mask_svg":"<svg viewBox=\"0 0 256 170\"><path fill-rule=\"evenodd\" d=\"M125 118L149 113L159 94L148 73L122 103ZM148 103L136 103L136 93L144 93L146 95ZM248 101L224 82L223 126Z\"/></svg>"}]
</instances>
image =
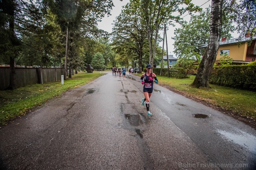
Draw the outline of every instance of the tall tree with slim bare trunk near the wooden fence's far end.
<instances>
[{"instance_id":1,"label":"tall tree with slim bare trunk near the wooden fence's far end","mask_svg":"<svg viewBox=\"0 0 256 170\"><path fill-rule=\"evenodd\" d=\"M101 0L44 0L44 4L57 16L62 31L66 31L65 71L67 73L69 31L73 33L80 29L83 33L95 31L93 28L97 25L97 21L100 21L106 13L110 15L113 3L112 0L103 2Z\"/></svg>"}]
</instances>

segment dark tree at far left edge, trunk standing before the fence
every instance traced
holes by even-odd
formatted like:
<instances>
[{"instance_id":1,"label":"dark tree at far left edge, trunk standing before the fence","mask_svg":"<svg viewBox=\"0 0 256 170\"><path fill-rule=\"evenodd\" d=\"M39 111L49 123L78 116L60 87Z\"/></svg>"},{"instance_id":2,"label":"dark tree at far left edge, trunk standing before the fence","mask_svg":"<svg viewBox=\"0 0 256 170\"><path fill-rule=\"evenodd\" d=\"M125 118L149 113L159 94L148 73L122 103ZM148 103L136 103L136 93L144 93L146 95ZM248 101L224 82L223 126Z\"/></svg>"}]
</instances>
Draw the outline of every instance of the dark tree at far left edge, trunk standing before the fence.
<instances>
[{"instance_id":1,"label":"dark tree at far left edge, trunk standing before the fence","mask_svg":"<svg viewBox=\"0 0 256 170\"><path fill-rule=\"evenodd\" d=\"M40 26L39 22L26 22L28 17L33 16L37 20L38 8L29 1L1 0L0 1L0 59L10 64L10 83L8 89L15 89L15 58L21 50L21 35L23 28ZM30 16L29 16L30 14ZM6 56L9 59L6 59Z\"/></svg>"}]
</instances>

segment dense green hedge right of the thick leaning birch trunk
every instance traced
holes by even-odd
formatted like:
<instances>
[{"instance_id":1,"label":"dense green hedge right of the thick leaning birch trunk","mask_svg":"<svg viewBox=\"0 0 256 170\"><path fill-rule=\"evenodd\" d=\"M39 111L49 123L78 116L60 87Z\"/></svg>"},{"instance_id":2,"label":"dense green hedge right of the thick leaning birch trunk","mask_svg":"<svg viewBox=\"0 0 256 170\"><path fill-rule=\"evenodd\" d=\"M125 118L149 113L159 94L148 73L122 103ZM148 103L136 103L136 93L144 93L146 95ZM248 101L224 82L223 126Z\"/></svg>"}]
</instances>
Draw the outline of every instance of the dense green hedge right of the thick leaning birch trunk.
<instances>
[{"instance_id":1,"label":"dense green hedge right of the thick leaning birch trunk","mask_svg":"<svg viewBox=\"0 0 256 170\"><path fill-rule=\"evenodd\" d=\"M213 67L211 84L237 89L256 90L256 65Z\"/></svg>"}]
</instances>

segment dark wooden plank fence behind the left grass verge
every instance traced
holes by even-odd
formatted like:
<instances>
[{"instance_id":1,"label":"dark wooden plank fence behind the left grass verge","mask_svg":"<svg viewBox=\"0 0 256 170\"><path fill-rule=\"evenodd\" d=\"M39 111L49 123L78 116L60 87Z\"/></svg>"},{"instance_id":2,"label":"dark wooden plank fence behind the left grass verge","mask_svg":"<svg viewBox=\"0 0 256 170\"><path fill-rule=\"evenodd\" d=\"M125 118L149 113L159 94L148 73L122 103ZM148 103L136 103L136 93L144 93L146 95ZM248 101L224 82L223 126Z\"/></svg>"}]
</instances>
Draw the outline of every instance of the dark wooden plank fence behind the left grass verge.
<instances>
[{"instance_id":1,"label":"dark wooden plank fence behind the left grass verge","mask_svg":"<svg viewBox=\"0 0 256 170\"><path fill-rule=\"evenodd\" d=\"M65 68L15 68L16 87L24 87L32 84L61 81L61 75L65 75ZM65 78L65 76L64 76ZM10 68L0 67L0 90L9 87Z\"/></svg>"}]
</instances>

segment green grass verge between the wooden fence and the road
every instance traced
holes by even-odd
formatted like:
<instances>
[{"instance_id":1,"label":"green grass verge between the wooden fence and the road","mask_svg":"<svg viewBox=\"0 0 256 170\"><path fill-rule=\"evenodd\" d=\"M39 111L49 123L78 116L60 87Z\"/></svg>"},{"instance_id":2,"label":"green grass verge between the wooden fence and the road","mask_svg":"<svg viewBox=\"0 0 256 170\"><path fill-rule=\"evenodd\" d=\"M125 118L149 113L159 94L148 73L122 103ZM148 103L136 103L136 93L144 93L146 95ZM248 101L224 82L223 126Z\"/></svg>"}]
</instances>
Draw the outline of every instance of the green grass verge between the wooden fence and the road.
<instances>
[{"instance_id":1,"label":"green grass verge between the wooden fence and the road","mask_svg":"<svg viewBox=\"0 0 256 170\"><path fill-rule=\"evenodd\" d=\"M71 79L67 78L63 85L59 81L34 84L15 90L1 90L0 125L7 124L13 118L26 114L47 100L60 96L66 90L80 87L101 75L97 71L93 73L79 72L72 76Z\"/></svg>"}]
</instances>

